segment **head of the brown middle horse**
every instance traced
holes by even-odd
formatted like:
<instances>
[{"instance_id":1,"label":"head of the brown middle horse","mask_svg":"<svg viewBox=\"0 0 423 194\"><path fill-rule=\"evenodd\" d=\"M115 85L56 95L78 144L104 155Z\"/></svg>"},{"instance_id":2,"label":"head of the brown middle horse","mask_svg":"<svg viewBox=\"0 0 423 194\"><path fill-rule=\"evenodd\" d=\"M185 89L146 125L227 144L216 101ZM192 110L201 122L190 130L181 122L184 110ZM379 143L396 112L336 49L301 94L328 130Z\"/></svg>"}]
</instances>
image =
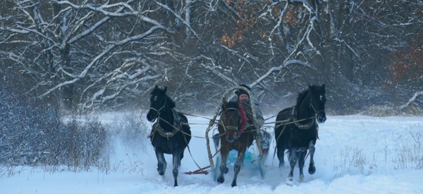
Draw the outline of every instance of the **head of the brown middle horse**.
<instances>
[{"instance_id":1,"label":"head of the brown middle horse","mask_svg":"<svg viewBox=\"0 0 423 194\"><path fill-rule=\"evenodd\" d=\"M241 114L238 105L239 101L226 102L223 98L220 125L225 130L226 140L231 143L240 137L238 127L241 124Z\"/></svg>"}]
</instances>

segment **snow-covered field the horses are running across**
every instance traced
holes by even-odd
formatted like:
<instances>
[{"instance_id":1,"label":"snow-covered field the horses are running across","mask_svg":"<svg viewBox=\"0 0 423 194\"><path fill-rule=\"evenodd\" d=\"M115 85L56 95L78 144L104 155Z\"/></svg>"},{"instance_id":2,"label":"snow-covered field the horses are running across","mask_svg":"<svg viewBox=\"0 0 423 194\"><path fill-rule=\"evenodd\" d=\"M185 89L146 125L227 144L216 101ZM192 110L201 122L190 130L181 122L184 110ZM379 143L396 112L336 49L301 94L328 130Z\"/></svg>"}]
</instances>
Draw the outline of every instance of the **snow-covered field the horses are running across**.
<instances>
[{"instance_id":1,"label":"snow-covered field the horses are running across","mask_svg":"<svg viewBox=\"0 0 423 194\"><path fill-rule=\"evenodd\" d=\"M99 119L110 123L114 122L113 117L116 115L100 115ZM423 117L329 115L319 126L314 155L317 172L307 173L307 159L305 183L298 183L295 168L294 185L286 185L289 164L278 169L273 141L264 179L257 169L245 168L235 188L231 187L232 167L220 185L212 174L183 174L197 169L195 162L200 167L209 165L204 139L209 120L188 120L195 136L190 142L192 157L186 149L177 188L173 188L171 155L166 155L168 167L162 177L157 173L157 160L147 138L145 145L134 147L115 138L110 148L113 151L109 172L63 169L51 173L44 172L43 167L1 169L0 193L423 193ZM274 118L269 122L274 122ZM5 170L13 171L13 176L5 176Z\"/></svg>"}]
</instances>

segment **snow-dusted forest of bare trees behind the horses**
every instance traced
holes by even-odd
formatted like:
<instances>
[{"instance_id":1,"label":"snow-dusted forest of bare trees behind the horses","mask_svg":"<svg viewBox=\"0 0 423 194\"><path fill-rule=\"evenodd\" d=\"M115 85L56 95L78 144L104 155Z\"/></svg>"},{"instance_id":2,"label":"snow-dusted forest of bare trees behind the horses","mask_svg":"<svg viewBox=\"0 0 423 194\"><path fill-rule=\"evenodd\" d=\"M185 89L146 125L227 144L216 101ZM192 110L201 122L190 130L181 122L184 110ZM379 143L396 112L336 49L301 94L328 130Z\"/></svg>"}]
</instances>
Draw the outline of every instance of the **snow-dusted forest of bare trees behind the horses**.
<instances>
[{"instance_id":1,"label":"snow-dusted forest of bare trees behind the horses","mask_svg":"<svg viewBox=\"0 0 423 194\"><path fill-rule=\"evenodd\" d=\"M73 112L146 109L156 84L184 112L250 84L274 113L323 83L332 114L398 110L423 90L422 29L421 0L2 0L0 85Z\"/></svg>"}]
</instances>

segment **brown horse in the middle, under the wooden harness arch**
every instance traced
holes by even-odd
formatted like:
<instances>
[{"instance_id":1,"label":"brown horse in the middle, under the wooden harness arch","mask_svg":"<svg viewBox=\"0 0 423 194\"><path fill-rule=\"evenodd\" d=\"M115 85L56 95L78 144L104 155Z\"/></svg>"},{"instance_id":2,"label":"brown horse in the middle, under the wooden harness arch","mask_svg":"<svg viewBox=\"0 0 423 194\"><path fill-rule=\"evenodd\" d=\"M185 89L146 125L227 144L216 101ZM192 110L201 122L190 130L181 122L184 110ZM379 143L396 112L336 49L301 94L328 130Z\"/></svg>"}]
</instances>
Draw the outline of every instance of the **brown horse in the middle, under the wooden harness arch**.
<instances>
[{"instance_id":1,"label":"brown horse in the middle, under the wooden harness arch","mask_svg":"<svg viewBox=\"0 0 423 194\"><path fill-rule=\"evenodd\" d=\"M221 142L220 174L217 177L218 183L223 183L223 174L228 173L226 160L231 150L238 150L238 157L234 164L234 175L231 186L236 186L236 178L244 161L245 150L252 144L256 129L254 120L250 116L252 110L250 105L237 102L226 102L223 99L222 112L218 125Z\"/></svg>"}]
</instances>

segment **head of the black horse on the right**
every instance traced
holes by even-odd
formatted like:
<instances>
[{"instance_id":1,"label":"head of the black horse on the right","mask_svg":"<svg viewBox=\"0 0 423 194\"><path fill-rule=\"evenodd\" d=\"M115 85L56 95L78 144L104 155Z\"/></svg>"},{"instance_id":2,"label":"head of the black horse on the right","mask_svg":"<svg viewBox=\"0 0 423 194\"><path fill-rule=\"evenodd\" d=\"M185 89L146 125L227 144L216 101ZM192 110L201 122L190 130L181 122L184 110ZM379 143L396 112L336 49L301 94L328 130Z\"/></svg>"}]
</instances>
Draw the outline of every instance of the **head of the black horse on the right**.
<instances>
[{"instance_id":1,"label":"head of the black horse on the right","mask_svg":"<svg viewBox=\"0 0 423 194\"><path fill-rule=\"evenodd\" d=\"M324 106L326 104L326 89L324 84L321 86L310 86L309 91L312 93L310 106L317 114L317 122L324 123L326 121L326 113Z\"/></svg>"}]
</instances>

